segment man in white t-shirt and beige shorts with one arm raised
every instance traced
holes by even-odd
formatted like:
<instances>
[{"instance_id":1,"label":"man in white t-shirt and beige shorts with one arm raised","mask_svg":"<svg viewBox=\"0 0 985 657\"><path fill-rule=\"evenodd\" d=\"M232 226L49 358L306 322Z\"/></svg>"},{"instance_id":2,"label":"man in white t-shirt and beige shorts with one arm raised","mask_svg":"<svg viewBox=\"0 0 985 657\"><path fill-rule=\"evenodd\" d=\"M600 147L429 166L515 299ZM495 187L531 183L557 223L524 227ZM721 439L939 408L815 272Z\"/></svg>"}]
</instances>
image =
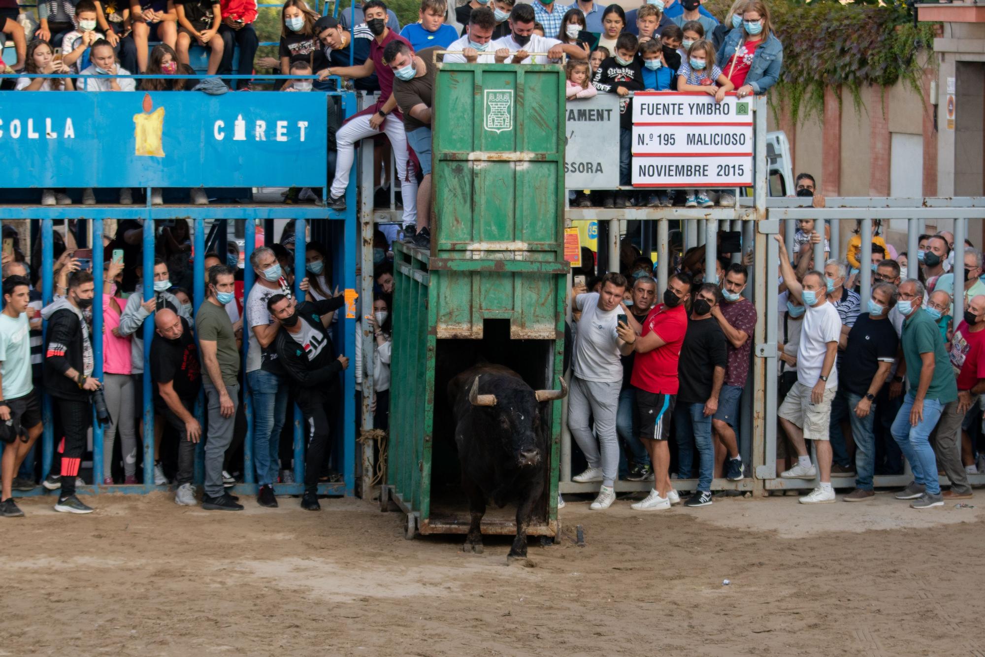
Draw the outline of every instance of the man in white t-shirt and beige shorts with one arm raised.
<instances>
[{"instance_id":1,"label":"man in white t-shirt and beige shorts with one arm raised","mask_svg":"<svg viewBox=\"0 0 985 657\"><path fill-rule=\"evenodd\" d=\"M797 382L777 411L780 426L797 450L797 465L781 473L780 477L814 479L817 471L811 464L810 452L805 442L814 440L818 450L821 484L810 494L801 497L800 501L802 504L833 502L831 443L827 431L831 418L831 400L838 388L835 358L841 335L841 318L834 305L827 300L824 275L818 271L810 271L804 275L803 284L798 281L783 244L783 235L773 236L780 245L780 272L789 295L799 298L807 308L801 327L800 345L797 347Z\"/></svg>"}]
</instances>

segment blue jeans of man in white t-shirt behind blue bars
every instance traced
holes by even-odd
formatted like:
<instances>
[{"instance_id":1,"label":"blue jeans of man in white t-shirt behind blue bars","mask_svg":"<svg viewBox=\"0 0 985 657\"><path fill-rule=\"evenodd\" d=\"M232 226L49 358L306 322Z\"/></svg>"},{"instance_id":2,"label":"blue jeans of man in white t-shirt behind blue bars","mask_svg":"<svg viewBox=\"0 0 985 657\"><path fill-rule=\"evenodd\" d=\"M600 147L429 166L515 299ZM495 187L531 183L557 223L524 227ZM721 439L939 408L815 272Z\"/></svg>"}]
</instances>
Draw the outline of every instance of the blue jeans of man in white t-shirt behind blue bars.
<instances>
[{"instance_id":1,"label":"blue jeans of man in white t-shirt behind blue bars","mask_svg":"<svg viewBox=\"0 0 985 657\"><path fill-rule=\"evenodd\" d=\"M278 448L288 412L288 386L280 376L264 369L246 372L246 381L253 404L256 483L267 486L276 482L278 477Z\"/></svg>"}]
</instances>

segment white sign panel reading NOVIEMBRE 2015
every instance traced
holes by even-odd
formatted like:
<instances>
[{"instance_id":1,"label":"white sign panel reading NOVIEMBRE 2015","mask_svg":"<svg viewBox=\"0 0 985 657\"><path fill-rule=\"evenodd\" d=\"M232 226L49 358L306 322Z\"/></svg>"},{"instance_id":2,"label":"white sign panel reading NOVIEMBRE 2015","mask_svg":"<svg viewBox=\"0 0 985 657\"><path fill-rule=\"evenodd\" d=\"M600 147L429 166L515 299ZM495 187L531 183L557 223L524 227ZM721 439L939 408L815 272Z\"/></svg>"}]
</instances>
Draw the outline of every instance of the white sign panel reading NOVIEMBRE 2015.
<instances>
[{"instance_id":1,"label":"white sign panel reading NOVIEMBRE 2015","mask_svg":"<svg viewBox=\"0 0 985 657\"><path fill-rule=\"evenodd\" d=\"M749 187L753 184L753 159L748 156L633 158L632 184L675 189Z\"/></svg>"}]
</instances>

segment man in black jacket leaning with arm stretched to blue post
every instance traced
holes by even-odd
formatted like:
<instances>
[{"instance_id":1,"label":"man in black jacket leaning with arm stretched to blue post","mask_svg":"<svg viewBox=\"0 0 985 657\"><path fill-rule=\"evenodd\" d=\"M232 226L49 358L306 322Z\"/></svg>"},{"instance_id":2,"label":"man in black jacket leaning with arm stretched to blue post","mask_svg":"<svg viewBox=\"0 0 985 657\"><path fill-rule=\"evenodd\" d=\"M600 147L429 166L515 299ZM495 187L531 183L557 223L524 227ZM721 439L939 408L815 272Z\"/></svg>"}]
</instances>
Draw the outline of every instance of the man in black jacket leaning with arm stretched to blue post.
<instances>
[{"instance_id":1,"label":"man in black jacket leaning with arm stretched to blue post","mask_svg":"<svg viewBox=\"0 0 985 657\"><path fill-rule=\"evenodd\" d=\"M339 372L349 366L321 322L321 315L342 307L343 296L302 301L284 295L267 299L267 309L281 322L272 347L291 379L292 394L304 414L307 447L304 457L304 494L301 508L319 511L318 474L325 462L330 432L329 406L339 388Z\"/></svg>"}]
</instances>

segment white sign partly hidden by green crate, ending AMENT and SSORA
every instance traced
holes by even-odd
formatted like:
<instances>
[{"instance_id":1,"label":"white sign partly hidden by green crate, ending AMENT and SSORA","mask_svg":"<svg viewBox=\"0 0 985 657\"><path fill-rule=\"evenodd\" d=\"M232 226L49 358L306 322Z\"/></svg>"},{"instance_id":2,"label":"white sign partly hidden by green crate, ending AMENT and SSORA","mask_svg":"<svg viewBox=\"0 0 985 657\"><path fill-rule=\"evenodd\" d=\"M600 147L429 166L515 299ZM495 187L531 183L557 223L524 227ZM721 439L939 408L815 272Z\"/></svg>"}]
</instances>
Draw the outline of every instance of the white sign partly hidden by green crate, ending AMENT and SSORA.
<instances>
[{"instance_id":1,"label":"white sign partly hidden by green crate, ending AMENT and SSORA","mask_svg":"<svg viewBox=\"0 0 985 657\"><path fill-rule=\"evenodd\" d=\"M568 100L564 114L564 187L619 187L619 97Z\"/></svg>"}]
</instances>

